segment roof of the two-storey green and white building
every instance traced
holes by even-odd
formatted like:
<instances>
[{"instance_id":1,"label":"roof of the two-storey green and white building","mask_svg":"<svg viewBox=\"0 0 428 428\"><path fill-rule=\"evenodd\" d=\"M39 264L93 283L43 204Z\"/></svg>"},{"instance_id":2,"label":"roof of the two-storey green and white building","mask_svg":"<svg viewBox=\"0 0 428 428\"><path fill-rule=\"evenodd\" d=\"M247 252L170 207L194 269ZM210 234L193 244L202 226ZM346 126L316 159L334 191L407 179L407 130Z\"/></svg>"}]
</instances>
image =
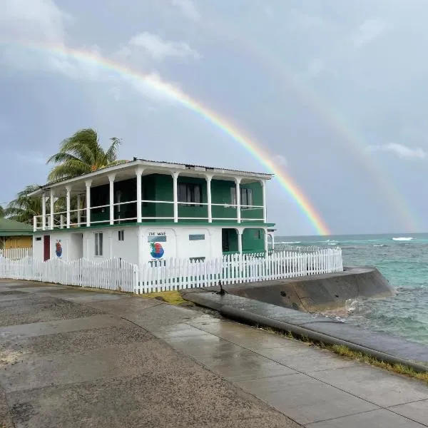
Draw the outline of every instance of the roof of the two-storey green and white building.
<instances>
[{"instance_id":1,"label":"roof of the two-storey green and white building","mask_svg":"<svg viewBox=\"0 0 428 428\"><path fill-rule=\"evenodd\" d=\"M47 183L39 190L35 190L33 193L29 195L35 196L39 195L46 189L50 188L63 188L65 185L70 184L75 188L78 185L78 188L75 190L84 190L84 181L85 180L93 180L93 185L99 185L106 181L108 183L108 174L115 173L116 180L123 180L126 178L131 178L131 176L135 177L135 173L133 172L133 168L142 167L145 171L151 171L150 173L165 173L176 170L178 173L183 175L214 175L214 178L229 178L232 180L235 177L240 177L243 180L270 180L273 175L267 173L254 173L250 171L242 171L242 170L233 170L228 168L215 168L210 166L203 165L190 165L187 163L170 163L166 161L148 161L146 159L138 159L133 158L133 161L125 161L118 163L117 165L109 166L106 168L101 168L99 170L93 171L91 173L86 173L82 175L77 175L73 178L65 178L63 180L58 180L54 182ZM104 178L104 179L103 179ZM80 186L79 186L80 184ZM83 187L82 187L83 185ZM81 188L80 188L81 187Z\"/></svg>"}]
</instances>

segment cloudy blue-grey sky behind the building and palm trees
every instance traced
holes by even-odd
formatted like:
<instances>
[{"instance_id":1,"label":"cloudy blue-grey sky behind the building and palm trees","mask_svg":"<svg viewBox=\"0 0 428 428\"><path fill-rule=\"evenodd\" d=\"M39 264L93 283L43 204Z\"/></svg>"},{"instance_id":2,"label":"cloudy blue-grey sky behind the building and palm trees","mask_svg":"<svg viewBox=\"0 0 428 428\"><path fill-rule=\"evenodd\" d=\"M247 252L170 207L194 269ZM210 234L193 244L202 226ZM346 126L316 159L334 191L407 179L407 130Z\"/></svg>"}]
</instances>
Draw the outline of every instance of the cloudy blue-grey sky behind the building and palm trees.
<instances>
[{"instance_id":1,"label":"cloudy blue-grey sky behind the building and palm trees","mask_svg":"<svg viewBox=\"0 0 428 428\"><path fill-rule=\"evenodd\" d=\"M428 41L422 0L1 0L0 204L46 182L64 138L96 128L119 158L270 172L258 142L333 234L428 232ZM54 48L54 49L53 49ZM86 51L82 61L61 51ZM314 225L273 178L279 235Z\"/></svg>"}]
</instances>

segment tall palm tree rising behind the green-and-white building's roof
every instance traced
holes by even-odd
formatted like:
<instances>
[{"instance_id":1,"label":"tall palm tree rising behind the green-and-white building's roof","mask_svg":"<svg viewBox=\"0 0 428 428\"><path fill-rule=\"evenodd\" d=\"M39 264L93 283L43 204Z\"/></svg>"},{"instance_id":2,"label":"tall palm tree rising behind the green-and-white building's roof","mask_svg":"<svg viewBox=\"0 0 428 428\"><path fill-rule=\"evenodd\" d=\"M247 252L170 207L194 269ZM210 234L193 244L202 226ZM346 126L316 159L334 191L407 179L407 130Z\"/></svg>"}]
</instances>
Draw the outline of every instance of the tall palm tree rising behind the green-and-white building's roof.
<instances>
[{"instance_id":1,"label":"tall palm tree rising behind the green-and-white building's roof","mask_svg":"<svg viewBox=\"0 0 428 428\"><path fill-rule=\"evenodd\" d=\"M113 137L110 138L110 141L110 147L104 151L95 130L87 128L77 131L70 138L63 140L58 153L48 159L47 163L57 164L49 173L48 180L72 178L126 162L117 160L118 146L121 144L120 138Z\"/></svg>"}]
</instances>

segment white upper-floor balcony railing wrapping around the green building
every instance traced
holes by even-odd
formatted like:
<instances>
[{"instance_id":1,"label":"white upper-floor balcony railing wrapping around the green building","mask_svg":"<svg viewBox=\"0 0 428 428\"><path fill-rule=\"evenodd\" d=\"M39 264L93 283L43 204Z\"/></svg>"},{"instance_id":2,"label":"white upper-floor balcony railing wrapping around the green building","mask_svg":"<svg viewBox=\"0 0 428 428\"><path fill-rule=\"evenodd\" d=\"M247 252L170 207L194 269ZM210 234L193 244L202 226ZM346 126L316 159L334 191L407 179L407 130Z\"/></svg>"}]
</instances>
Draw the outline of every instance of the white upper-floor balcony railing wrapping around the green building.
<instances>
[{"instance_id":1,"label":"white upper-floor balcony railing wrapping around the green building","mask_svg":"<svg viewBox=\"0 0 428 428\"><path fill-rule=\"evenodd\" d=\"M123 223L137 223L137 201L131 200L113 204L113 218L110 215L110 204L96 205L90 208L90 222L87 224L86 208L69 211L46 213L45 216L34 217L34 230L52 230L63 228L81 228L96 225L120 225ZM213 223L222 222L263 222L263 205L238 205L226 203L211 203L211 216L208 203L178 202L178 215L174 216L174 202L165 200L142 200L141 222L171 222L190 223L191 221ZM69 221L68 221L69 217ZM51 225L52 223L52 225Z\"/></svg>"}]
</instances>

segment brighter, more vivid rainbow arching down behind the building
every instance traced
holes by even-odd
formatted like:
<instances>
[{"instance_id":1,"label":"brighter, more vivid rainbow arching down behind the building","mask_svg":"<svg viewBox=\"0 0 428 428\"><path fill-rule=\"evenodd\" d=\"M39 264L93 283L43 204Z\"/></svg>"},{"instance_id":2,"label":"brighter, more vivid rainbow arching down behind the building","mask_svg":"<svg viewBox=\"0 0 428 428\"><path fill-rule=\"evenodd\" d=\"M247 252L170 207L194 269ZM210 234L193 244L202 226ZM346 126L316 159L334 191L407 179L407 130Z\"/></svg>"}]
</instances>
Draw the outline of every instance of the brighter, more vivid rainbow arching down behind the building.
<instances>
[{"instance_id":1,"label":"brighter, more vivid rainbow arching down behind the building","mask_svg":"<svg viewBox=\"0 0 428 428\"><path fill-rule=\"evenodd\" d=\"M277 163L275 163L272 158L265 153L265 148L263 148L260 143L255 141L253 138L245 136L243 131L240 131L236 126L230 124L218 113L211 111L209 108L203 106L194 98L191 98L187 93L184 93L180 89L175 88L170 83L164 83L156 76L140 73L131 68L123 66L120 63L111 61L111 59L103 58L89 51L71 49L66 48L65 46L56 46L52 44L17 44L9 41L0 41L0 43L6 44L8 46L24 47L35 51L48 51L58 56L75 58L78 61L90 63L108 71L118 73L124 78L131 78L141 81L147 86L153 88L155 91L163 93L165 96L178 101L182 106L189 108L191 111L194 111L198 115L202 116L210 123L213 123L213 125L220 128L220 130L228 134L228 136L233 138L233 140L240 143L240 145L243 146L243 148L245 148L248 153L254 156L261 164L265 165L266 168L275 174L277 181L280 183L282 188L287 191L291 198L295 200L295 203L297 203L300 211L305 215L307 220L309 220L315 232L318 235L331 235L330 230L327 228L327 225L325 224L324 220L322 220L320 214L317 213L317 210L315 210L312 203L310 203L310 200L305 196L302 190L300 190L290 175L288 175L285 170L280 167L280 165L277 165Z\"/></svg>"}]
</instances>

